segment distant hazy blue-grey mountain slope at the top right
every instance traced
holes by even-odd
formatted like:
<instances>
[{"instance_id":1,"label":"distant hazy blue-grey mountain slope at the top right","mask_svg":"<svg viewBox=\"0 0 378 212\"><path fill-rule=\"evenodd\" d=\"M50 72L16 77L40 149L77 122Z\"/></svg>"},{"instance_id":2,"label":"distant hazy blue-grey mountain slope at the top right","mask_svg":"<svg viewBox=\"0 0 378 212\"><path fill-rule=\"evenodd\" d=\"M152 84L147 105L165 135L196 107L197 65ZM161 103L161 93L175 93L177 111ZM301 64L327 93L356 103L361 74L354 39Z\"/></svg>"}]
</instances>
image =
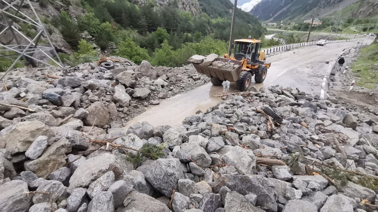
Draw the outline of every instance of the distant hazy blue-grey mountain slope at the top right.
<instances>
[{"instance_id":1,"label":"distant hazy blue-grey mountain slope at the top right","mask_svg":"<svg viewBox=\"0 0 378 212\"><path fill-rule=\"evenodd\" d=\"M276 22L296 18L319 18L359 1L366 2L365 0L262 0L250 12L259 20Z\"/></svg>"}]
</instances>

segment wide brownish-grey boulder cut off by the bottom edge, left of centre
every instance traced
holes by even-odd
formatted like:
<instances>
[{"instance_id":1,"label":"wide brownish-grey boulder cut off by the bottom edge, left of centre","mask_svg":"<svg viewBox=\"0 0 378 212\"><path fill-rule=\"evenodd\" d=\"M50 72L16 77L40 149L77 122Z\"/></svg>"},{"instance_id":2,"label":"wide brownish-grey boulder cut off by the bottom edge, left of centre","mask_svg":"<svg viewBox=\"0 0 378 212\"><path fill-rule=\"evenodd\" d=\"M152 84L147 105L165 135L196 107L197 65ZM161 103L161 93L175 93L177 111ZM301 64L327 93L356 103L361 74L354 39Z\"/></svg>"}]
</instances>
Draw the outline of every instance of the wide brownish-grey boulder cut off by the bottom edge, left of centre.
<instances>
[{"instance_id":1,"label":"wide brownish-grey boulder cut off by the bottom edge, left of centre","mask_svg":"<svg viewBox=\"0 0 378 212\"><path fill-rule=\"evenodd\" d=\"M133 191L127 198L130 198L130 203L123 209L117 209L117 212L171 212L166 204L146 194Z\"/></svg>"}]
</instances>

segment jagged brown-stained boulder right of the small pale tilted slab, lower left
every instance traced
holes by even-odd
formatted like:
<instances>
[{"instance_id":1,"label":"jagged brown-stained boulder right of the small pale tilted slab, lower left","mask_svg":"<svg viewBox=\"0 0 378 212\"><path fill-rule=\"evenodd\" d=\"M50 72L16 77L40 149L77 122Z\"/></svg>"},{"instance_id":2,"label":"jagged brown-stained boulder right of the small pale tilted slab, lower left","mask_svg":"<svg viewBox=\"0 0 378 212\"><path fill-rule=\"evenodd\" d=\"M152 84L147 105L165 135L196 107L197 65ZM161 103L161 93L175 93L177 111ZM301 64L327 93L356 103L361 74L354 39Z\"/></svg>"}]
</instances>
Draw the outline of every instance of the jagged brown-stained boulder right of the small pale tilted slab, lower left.
<instances>
[{"instance_id":1,"label":"jagged brown-stained boulder right of the small pale tilted slab, lower left","mask_svg":"<svg viewBox=\"0 0 378 212\"><path fill-rule=\"evenodd\" d=\"M25 162L26 171L32 171L38 177L48 178L50 174L67 163L66 154L71 152L71 143L62 138L47 147L42 156Z\"/></svg>"}]
</instances>

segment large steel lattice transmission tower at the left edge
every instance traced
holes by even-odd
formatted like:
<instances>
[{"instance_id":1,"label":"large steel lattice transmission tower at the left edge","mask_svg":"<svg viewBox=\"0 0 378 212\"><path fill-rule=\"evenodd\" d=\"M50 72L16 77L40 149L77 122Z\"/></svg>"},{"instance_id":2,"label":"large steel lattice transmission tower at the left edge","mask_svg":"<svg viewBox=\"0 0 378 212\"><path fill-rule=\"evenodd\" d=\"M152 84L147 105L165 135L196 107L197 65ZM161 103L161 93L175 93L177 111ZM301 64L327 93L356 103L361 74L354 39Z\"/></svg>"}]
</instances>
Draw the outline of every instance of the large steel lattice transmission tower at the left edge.
<instances>
[{"instance_id":1,"label":"large steel lattice transmission tower at the left edge","mask_svg":"<svg viewBox=\"0 0 378 212\"><path fill-rule=\"evenodd\" d=\"M23 12L24 9L22 8L22 6L25 4L28 4L29 9L31 9L33 15L32 17L31 15L27 15L25 12ZM16 26L14 26L15 20L34 26L37 29L37 34L33 38L29 38L23 32L19 31ZM51 43L46 28L43 26L30 0L0 0L0 37L4 36L6 32L11 33L12 44L4 45L0 42L0 53L3 53L0 54L0 57L6 57L12 60L13 63L7 69L5 74L3 74L3 76L0 78L0 81L5 77L6 74L8 74L9 71L12 70L14 65L21 58L23 59L25 65L30 65L31 61L34 60L39 61L40 63L43 63L45 65L52 66L51 64L46 63L46 61L33 57L33 54L36 52L42 52L46 57L53 61L53 63L59 66L62 70L65 70L63 63L59 58L59 55L57 54L53 44ZM20 40L17 38L17 35L26 40L28 42L28 45L21 45ZM46 46L38 46L41 36L45 38L47 42ZM54 58L52 58L46 52L53 53L52 55L55 55L58 61L54 60ZM11 57L14 55L18 55L17 59Z\"/></svg>"}]
</instances>

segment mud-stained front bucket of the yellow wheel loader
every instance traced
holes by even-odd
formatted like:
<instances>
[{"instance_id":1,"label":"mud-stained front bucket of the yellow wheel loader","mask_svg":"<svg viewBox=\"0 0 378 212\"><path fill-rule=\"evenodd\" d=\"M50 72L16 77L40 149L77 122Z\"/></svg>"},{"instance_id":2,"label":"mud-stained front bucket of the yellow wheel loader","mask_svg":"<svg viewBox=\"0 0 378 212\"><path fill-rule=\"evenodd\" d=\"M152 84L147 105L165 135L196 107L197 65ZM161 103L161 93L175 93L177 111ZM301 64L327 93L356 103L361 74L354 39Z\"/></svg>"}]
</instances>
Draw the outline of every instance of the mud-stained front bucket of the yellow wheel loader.
<instances>
[{"instance_id":1,"label":"mud-stained front bucket of the yellow wheel loader","mask_svg":"<svg viewBox=\"0 0 378 212\"><path fill-rule=\"evenodd\" d=\"M239 65L237 68L233 70L225 70L225 69L218 69L212 66L204 66L201 64L193 63L194 68L197 70L198 73L204 74L208 77L218 77L221 80L228 80L230 82L235 82L238 80L240 72L242 71L242 62L239 60L230 60L223 57L218 57L215 61L222 61L234 63L235 65Z\"/></svg>"}]
</instances>

